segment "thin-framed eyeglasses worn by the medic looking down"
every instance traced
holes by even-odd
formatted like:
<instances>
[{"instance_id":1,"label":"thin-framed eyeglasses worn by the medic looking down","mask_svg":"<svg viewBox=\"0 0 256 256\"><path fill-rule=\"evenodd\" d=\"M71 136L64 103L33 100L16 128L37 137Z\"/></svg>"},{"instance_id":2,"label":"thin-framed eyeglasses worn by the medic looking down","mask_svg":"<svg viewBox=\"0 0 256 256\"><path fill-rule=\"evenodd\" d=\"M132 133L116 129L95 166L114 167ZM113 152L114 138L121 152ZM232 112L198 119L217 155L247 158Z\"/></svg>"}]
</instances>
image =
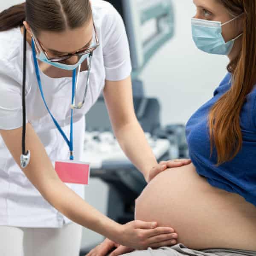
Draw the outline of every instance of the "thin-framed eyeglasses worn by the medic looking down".
<instances>
[{"instance_id":1,"label":"thin-framed eyeglasses worn by the medic looking down","mask_svg":"<svg viewBox=\"0 0 256 256\"><path fill-rule=\"evenodd\" d=\"M99 39L98 39L98 35L97 35L97 32L96 32L96 28L95 28L94 23L93 23L93 29L94 29L94 32L95 32L96 45L94 45L93 47L90 47L89 49L83 49L83 50L77 51L75 53L69 53L67 55L62 55L62 56L53 57L53 58L49 58L49 54L43 49L42 45L36 39L36 37L35 37L35 35L33 33L32 33L32 37L34 39L35 46L38 48L39 51L44 52L44 54L46 55L48 61L60 62L60 61L66 61L66 60L68 60L69 58L71 58L73 56L79 56L81 58L82 55L85 55L85 54L88 54L90 52L93 52L97 47L99 47Z\"/></svg>"}]
</instances>

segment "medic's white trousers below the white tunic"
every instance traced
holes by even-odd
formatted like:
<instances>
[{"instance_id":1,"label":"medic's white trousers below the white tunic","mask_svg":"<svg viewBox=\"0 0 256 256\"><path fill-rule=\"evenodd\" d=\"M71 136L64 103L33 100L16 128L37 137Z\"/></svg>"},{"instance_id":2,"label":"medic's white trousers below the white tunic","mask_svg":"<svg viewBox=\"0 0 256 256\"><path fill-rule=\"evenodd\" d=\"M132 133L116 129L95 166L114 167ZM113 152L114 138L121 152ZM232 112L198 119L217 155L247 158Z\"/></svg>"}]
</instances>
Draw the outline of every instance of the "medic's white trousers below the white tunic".
<instances>
[{"instance_id":1,"label":"medic's white trousers below the white tunic","mask_svg":"<svg viewBox=\"0 0 256 256\"><path fill-rule=\"evenodd\" d=\"M82 227L62 228L0 226L0 256L79 256Z\"/></svg>"}]
</instances>

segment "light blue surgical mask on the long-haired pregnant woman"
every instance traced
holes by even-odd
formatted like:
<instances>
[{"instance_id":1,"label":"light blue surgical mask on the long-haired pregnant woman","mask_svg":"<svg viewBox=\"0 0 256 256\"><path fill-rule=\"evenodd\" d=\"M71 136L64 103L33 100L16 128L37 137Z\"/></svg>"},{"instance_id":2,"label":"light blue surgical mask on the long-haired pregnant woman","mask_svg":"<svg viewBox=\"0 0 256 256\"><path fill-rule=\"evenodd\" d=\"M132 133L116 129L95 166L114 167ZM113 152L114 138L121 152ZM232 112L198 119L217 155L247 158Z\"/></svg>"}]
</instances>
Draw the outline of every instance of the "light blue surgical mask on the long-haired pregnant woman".
<instances>
[{"instance_id":1,"label":"light blue surgical mask on the long-haired pregnant woman","mask_svg":"<svg viewBox=\"0 0 256 256\"><path fill-rule=\"evenodd\" d=\"M226 43L222 36L222 26L236 20L241 15L223 24L220 21L192 18L192 37L198 49L212 54L229 55L236 39L243 33Z\"/></svg>"}]
</instances>

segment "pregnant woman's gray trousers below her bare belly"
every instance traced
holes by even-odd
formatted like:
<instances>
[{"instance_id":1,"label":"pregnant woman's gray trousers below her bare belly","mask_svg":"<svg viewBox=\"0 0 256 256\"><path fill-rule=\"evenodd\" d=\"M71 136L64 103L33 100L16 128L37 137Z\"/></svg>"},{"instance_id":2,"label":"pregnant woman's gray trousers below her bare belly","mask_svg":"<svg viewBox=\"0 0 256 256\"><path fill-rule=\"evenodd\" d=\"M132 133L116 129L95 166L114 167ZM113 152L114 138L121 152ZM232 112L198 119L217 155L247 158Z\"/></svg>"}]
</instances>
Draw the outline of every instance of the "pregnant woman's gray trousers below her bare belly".
<instances>
[{"instance_id":1,"label":"pregnant woman's gray trousers below her bare belly","mask_svg":"<svg viewBox=\"0 0 256 256\"><path fill-rule=\"evenodd\" d=\"M151 249L134 251L124 254L125 256L256 256L256 251L251 250L235 250L235 249L207 249L192 250L184 244L175 244L171 247L160 247L159 249Z\"/></svg>"}]
</instances>

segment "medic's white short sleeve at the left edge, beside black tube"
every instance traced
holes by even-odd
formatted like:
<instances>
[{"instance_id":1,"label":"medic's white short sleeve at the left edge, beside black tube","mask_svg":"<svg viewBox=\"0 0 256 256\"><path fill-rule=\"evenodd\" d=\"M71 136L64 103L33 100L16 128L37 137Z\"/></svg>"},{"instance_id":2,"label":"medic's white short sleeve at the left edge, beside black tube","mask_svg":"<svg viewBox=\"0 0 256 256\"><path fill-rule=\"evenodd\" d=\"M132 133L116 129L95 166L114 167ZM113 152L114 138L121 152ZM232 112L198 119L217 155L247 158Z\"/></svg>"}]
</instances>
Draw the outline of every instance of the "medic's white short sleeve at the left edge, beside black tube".
<instances>
[{"instance_id":1,"label":"medic's white short sleeve at the left edge, beside black tube","mask_svg":"<svg viewBox=\"0 0 256 256\"><path fill-rule=\"evenodd\" d=\"M22 126L21 85L19 73L2 59L0 69L0 129L12 130Z\"/></svg>"}]
</instances>

